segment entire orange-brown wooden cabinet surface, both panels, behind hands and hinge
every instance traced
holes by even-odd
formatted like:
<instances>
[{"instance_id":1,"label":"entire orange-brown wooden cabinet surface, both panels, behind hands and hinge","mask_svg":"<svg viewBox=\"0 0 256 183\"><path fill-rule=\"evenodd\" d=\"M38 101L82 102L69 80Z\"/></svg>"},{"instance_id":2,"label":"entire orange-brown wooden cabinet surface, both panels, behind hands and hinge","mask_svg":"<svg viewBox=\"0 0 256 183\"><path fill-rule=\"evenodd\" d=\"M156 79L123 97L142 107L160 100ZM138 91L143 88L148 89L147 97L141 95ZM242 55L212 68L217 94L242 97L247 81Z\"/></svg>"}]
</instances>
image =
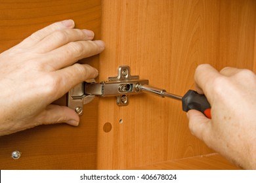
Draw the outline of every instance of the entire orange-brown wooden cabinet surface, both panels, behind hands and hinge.
<instances>
[{"instance_id":1,"label":"entire orange-brown wooden cabinet surface, both panels, behind hands and hinge","mask_svg":"<svg viewBox=\"0 0 256 183\"><path fill-rule=\"evenodd\" d=\"M99 69L100 81L129 65L150 85L184 95L201 63L256 71L253 0L1 0L0 52L69 18L96 39L101 31L106 50L83 60ZM190 134L179 101L141 94L127 107L115 97L84 107L79 127L0 137L0 169L238 169ZM20 159L11 158L14 150Z\"/></svg>"}]
</instances>

